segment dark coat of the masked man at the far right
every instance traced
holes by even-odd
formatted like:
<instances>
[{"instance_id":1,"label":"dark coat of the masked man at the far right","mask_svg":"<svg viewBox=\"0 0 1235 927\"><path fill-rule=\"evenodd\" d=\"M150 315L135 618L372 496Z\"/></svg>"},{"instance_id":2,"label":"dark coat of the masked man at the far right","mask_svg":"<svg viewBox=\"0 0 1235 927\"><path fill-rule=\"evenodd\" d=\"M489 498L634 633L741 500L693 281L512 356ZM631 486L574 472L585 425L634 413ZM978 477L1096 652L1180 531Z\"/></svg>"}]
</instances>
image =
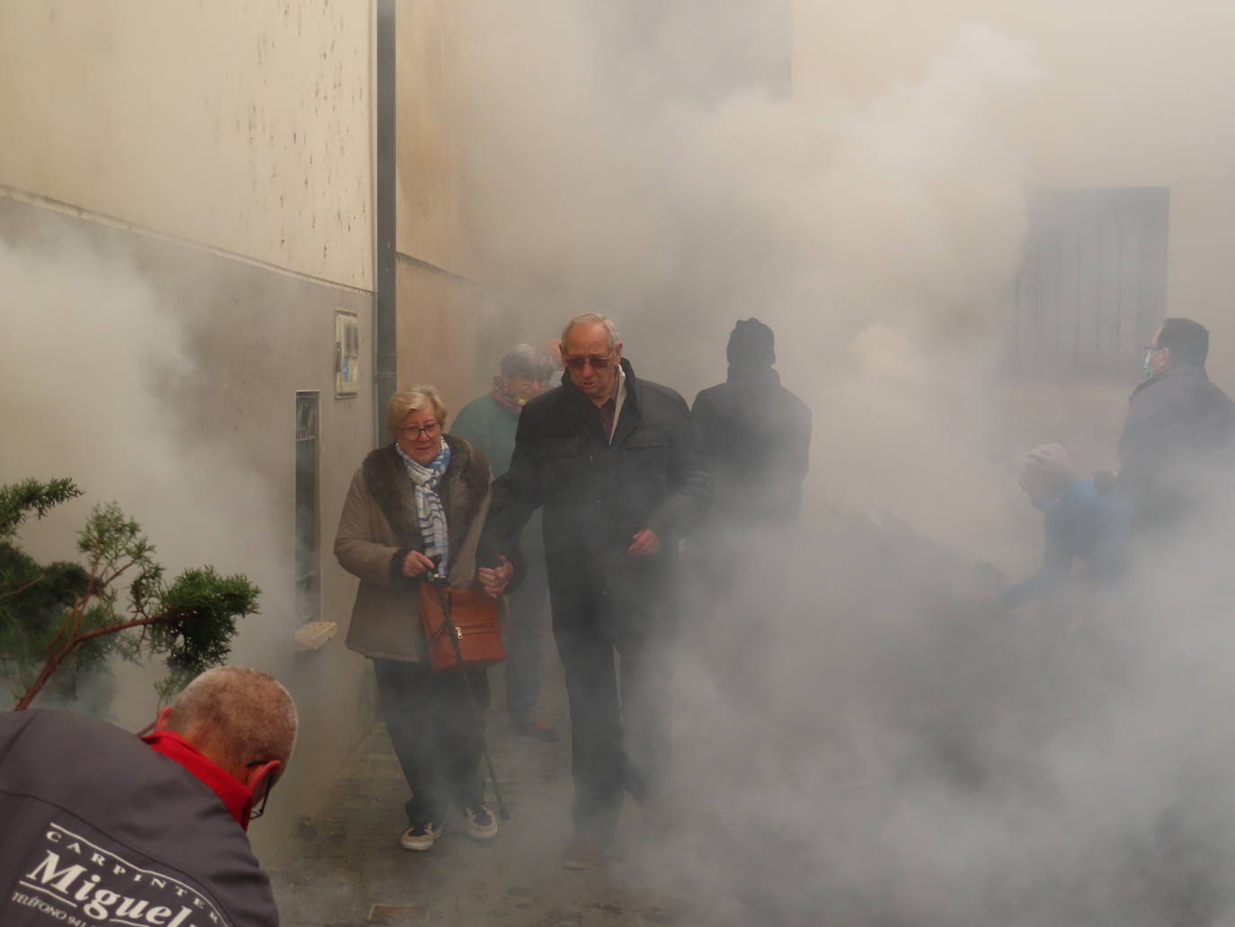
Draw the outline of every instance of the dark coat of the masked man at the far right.
<instances>
[{"instance_id":1,"label":"dark coat of the masked man at the far right","mask_svg":"<svg viewBox=\"0 0 1235 927\"><path fill-rule=\"evenodd\" d=\"M1128 402L1119 439L1119 492L1139 519L1170 519L1204 498L1207 464L1221 462L1235 404L1204 367L1179 365L1145 381Z\"/></svg>"}]
</instances>

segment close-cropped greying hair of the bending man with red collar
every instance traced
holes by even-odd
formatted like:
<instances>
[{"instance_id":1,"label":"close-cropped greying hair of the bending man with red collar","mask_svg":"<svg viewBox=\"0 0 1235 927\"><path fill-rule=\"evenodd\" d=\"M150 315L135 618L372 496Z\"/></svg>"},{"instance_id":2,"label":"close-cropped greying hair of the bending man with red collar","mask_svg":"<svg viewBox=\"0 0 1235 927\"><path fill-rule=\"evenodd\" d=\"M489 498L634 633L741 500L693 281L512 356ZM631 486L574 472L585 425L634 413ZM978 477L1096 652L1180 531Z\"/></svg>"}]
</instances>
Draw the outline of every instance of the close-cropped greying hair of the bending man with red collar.
<instances>
[{"instance_id":1,"label":"close-cropped greying hair of the bending man with red collar","mask_svg":"<svg viewBox=\"0 0 1235 927\"><path fill-rule=\"evenodd\" d=\"M172 702L168 728L220 766L279 760L296 743L296 705L279 681L251 666L215 666Z\"/></svg>"}]
</instances>

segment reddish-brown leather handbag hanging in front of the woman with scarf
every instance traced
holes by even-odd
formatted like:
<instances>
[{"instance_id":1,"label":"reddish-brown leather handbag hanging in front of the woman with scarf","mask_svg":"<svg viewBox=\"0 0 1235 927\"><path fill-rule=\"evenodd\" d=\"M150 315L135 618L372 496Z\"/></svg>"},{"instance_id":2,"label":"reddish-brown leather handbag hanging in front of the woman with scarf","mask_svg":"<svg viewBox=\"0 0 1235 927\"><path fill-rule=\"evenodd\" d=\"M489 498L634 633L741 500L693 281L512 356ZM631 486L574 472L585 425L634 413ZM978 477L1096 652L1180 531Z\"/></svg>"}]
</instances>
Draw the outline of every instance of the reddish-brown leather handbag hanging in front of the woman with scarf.
<instances>
[{"instance_id":1,"label":"reddish-brown leather handbag hanging in front of the woman with scarf","mask_svg":"<svg viewBox=\"0 0 1235 927\"><path fill-rule=\"evenodd\" d=\"M457 670L461 658L468 670L506 659L498 602L480 588L452 590L425 580L420 583L420 627L433 672Z\"/></svg>"}]
</instances>

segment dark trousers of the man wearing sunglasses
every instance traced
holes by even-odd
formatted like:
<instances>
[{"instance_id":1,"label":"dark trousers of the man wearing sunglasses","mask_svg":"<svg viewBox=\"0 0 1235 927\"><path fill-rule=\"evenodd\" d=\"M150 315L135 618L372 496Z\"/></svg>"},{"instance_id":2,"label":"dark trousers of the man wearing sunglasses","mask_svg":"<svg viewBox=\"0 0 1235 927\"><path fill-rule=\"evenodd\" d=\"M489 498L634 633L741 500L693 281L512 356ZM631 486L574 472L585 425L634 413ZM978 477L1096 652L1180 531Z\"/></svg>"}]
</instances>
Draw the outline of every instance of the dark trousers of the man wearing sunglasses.
<instances>
[{"instance_id":1,"label":"dark trousers of the man wearing sunglasses","mask_svg":"<svg viewBox=\"0 0 1235 927\"><path fill-rule=\"evenodd\" d=\"M640 802L659 797L669 765L671 612L666 602L553 596L553 637L571 701L579 833L610 836L624 790Z\"/></svg>"}]
</instances>

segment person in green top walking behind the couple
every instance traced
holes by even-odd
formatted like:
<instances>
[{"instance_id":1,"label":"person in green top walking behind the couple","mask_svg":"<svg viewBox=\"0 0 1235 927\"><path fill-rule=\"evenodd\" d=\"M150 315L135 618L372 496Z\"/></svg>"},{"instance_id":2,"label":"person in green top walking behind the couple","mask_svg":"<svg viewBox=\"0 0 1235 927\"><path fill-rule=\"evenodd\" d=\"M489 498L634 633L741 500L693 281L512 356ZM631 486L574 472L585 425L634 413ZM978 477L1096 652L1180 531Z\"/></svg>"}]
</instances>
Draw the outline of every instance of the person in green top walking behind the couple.
<instances>
[{"instance_id":1,"label":"person in green top walking behind the couple","mask_svg":"<svg viewBox=\"0 0 1235 927\"><path fill-rule=\"evenodd\" d=\"M489 459L494 478L510 467L519 413L527 400L545 392L553 362L538 347L515 345L503 355L499 370L493 389L463 407L451 428L451 434L479 447ZM515 733L556 742L557 732L536 716L541 634L548 606L540 513L524 530L520 546L527 572L519 590L506 597L506 708Z\"/></svg>"}]
</instances>

